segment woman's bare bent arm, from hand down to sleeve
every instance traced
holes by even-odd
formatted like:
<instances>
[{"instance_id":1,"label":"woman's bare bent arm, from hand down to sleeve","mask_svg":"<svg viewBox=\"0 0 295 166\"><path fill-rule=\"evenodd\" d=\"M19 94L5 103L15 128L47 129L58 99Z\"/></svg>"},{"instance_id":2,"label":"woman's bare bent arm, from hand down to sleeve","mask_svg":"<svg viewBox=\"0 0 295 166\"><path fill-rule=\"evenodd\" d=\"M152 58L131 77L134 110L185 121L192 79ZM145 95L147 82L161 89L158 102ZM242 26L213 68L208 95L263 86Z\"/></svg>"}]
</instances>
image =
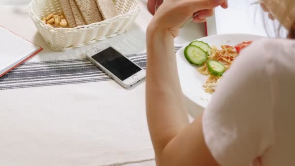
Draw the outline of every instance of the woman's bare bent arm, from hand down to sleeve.
<instances>
[{"instance_id":1,"label":"woman's bare bent arm, from hand down to sleeve","mask_svg":"<svg viewBox=\"0 0 295 166\"><path fill-rule=\"evenodd\" d=\"M195 10L225 1L166 0L147 31L147 116L158 166L215 166L202 132L201 118L188 121L176 66L174 37Z\"/></svg>"}]
</instances>

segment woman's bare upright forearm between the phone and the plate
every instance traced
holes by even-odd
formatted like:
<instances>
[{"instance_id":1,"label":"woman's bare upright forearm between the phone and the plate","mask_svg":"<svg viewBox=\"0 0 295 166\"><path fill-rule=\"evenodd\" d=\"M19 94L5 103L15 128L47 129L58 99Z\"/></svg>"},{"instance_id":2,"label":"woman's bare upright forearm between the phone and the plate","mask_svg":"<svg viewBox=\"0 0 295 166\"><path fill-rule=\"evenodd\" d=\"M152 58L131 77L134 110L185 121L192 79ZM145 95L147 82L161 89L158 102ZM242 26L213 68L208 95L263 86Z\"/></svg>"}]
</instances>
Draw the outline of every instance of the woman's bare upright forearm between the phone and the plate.
<instances>
[{"instance_id":1,"label":"woman's bare upright forearm between the phone and the plate","mask_svg":"<svg viewBox=\"0 0 295 166\"><path fill-rule=\"evenodd\" d=\"M189 120L180 88L173 36L149 27L147 49L147 116L157 153L189 124Z\"/></svg>"}]
</instances>

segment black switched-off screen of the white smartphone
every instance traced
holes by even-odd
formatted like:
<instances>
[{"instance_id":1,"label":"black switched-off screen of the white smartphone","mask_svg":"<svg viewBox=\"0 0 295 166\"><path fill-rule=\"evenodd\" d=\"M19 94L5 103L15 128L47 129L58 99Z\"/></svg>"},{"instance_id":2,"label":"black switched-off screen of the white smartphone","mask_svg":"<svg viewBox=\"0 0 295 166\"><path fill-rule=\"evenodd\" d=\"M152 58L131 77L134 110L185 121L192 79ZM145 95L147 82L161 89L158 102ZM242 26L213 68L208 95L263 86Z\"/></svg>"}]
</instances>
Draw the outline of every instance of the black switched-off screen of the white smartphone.
<instances>
[{"instance_id":1,"label":"black switched-off screen of the white smartphone","mask_svg":"<svg viewBox=\"0 0 295 166\"><path fill-rule=\"evenodd\" d=\"M126 80L141 70L140 67L133 64L129 59L112 47L93 55L92 58L113 73L121 81Z\"/></svg>"}]
</instances>

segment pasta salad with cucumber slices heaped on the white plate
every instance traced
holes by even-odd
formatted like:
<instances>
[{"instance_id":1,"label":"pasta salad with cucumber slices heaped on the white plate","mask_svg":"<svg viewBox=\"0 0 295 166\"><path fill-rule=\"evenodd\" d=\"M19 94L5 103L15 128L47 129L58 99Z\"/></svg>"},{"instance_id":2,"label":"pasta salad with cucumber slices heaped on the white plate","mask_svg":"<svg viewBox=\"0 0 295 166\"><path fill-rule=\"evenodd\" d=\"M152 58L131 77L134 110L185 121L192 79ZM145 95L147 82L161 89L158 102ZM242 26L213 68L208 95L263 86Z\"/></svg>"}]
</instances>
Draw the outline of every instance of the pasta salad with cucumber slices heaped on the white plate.
<instances>
[{"instance_id":1,"label":"pasta salad with cucumber slices heaped on the white plate","mask_svg":"<svg viewBox=\"0 0 295 166\"><path fill-rule=\"evenodd\" d=\"M239 52L249 46L252 41L240 43L236 46L222 45L221 50L210 47L202 41L193 41L184 50L184 56L191 64L199 66L197 71L208 76L203 85L205 92L213 93L222 75L229 69Z\"/></svg>"}]
</instances>

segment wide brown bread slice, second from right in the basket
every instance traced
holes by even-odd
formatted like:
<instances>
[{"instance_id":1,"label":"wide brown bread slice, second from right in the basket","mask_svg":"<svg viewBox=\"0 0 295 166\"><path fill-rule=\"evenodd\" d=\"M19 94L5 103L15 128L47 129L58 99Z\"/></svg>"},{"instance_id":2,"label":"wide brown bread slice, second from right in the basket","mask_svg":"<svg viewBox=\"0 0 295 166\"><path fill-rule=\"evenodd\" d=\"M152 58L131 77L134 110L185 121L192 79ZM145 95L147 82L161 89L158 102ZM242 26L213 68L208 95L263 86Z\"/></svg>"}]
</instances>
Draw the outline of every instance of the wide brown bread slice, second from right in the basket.
<instances>
[{"instance_id":1,"label":"wide brown bread slice, second from right in the basket","mask_svg":"<svg viewBox=\"0 0 295 166\"><path fill-rule=\"evenodd\" d=\"M86 24L103 20L95 0L75 0Z\"/></svg>"}]
</instances>

